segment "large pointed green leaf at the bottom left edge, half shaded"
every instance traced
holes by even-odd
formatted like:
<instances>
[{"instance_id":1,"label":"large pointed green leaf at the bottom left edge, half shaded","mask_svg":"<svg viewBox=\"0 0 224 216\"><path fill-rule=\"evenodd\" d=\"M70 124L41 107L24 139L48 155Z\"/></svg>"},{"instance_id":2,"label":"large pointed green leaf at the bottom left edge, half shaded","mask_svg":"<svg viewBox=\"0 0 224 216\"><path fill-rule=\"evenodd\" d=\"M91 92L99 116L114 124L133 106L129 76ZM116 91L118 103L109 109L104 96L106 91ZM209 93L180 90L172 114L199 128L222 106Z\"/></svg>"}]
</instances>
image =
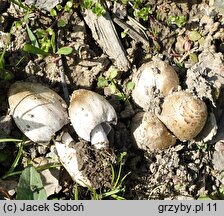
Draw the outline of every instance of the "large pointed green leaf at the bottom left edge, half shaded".
<instances>
[{"instance_id":1,"label":"large pointed green leaf at the bottom left edge, half shaded","mask_svg":"<svg viewBox=\"0 0 224 216\"><path fill-rule=\"evenodd\" d=\"M16 200L46 200L47 195L40 174L33 166L26 167L19 178Z\"/></svg>"}]
</instances>

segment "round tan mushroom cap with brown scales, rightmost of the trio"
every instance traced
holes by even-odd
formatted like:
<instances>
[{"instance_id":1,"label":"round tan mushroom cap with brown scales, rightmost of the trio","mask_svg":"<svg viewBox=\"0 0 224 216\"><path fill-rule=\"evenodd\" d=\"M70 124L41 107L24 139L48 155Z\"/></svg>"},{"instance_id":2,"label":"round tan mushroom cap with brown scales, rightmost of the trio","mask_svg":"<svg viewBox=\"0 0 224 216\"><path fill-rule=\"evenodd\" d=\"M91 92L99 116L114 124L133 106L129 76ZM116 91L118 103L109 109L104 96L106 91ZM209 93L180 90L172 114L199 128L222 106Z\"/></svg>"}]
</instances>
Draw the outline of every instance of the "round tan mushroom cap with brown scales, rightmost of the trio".
<instances>
[{"instance_id":1,"label":"round tan mushroom cap with brown scales, rightmost of the trio","mask_svg":"<svg viewBox=\"0 0 224 216\"><path fill-rule=\"evenodd\" d=\"M174 92L165 98L158 117L179 140L192 140L206 123L207 106L188 92Z\"/></svg>"}]
</instances>

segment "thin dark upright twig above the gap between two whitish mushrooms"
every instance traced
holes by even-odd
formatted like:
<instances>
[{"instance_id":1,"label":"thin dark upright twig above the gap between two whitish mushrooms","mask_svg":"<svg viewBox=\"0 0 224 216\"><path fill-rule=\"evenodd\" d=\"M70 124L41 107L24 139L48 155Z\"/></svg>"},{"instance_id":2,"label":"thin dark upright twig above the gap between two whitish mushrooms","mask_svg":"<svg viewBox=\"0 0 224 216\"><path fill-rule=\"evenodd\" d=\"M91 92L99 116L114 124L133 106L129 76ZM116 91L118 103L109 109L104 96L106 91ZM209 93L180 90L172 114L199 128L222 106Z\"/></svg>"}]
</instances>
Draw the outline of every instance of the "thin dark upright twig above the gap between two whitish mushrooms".
<instances>
[{"instance_id":1,"label":"thin dark upright twig above the gap between two whitish mushrooms","mask_svg":"<svg viewBox=\"0 0 224 216\"><path fill-rule=\"evenodd\" d=\"M57 49L59 49L59 44L61 40L61 30L58 30L58 37L57 37ZM59 58L58 60L58 68L59 68L59 73L61 77L61 85L63 89L63 94L64 94L64 99L67 104L69 104L69 93L68 93L68 87L66 85L65 81L65 70L64 70L64 64L62 61L62 57Z\"/></svg>"}]
</instances>

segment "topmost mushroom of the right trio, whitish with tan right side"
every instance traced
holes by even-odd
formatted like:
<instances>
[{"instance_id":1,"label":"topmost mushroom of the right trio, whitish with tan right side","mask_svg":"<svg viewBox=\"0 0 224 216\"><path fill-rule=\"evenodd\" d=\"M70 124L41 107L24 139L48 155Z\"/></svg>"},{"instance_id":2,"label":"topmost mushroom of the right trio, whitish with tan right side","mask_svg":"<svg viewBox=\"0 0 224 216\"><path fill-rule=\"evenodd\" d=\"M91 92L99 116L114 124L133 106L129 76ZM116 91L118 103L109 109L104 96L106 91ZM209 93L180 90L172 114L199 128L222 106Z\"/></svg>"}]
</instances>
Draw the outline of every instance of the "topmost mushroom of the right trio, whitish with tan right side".
<instances>
[{"instance_id":1,"label":"topmost mushroom of the right trio, whitish with tan right side","mask_svg":"<svg viewBox=\"0 0 224 216\"><path fill-rule=\"evenodd\" d=\"M179 78L173 67L157 58L143 64L133 76L133 82L132 98L145 110L148 110L155 92L167 96L179 86Z\"/></svg>"}]
</instances>

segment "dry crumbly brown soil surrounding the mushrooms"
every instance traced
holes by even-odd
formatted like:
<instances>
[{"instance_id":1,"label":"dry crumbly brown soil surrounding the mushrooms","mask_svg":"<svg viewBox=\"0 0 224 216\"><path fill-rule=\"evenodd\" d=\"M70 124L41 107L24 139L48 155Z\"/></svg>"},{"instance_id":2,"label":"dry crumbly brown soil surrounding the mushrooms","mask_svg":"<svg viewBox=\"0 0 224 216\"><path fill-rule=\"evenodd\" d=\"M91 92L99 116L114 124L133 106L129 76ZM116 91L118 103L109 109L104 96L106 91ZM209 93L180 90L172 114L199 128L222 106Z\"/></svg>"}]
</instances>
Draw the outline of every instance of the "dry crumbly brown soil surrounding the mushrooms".
<instances>
[{"instance_id":1,"label":"dry crumbly brown soil surrounding the mushrooms","mask_svg":"<svg viewBox=\"0 0 224 216\"><path fill-rule=\"evenodd\" d=\"M5 69L10 71L13 77L6 80L0 73L0 138L23 137L9 115L7 92L11 84L18 80L43 83L65 98L60 75L63 70L69 95L73 90L81 88L95 91L106 97L118 115L118 123L109 134L109 153L91 149L89 143L80 140L72 128L67 126L68 130L72 131L75 142L79 143L80 158L84 158L90 151L86 161L82 161L82 167L86 175L93 179L98 192L111 187L111 170L110 167L104 169L102 158L103 161L111 160L116 167L119 165L116 157L121 152L127 152L121 176L128 172L130 174L122 183L125 190L119 194L125 199L198 199L203 196L223 199L224 6L218 4L221 5L222 2L152 0L152 13L148 19L143 21L135 18L136 22L141 24L135 39L129 34L122 38L124 29L114 22L130 62L130 68L127 70L120 70L116 59L110 58L99 46L79 7L61 15L67 22L62 29L55 26L55 17L43 13L41 8L36 9L30 14L29 27L35 32L37 28L46 29L52 26L60 39L58 46L70 46L73 52L62 59L55 55L40 58L28 54L23 50L24 44L30 42L25 25L12 28L4 59ZM114 3L109 4L111 17L116 14L123 23L128 23L128 16L133 17L130 12L131 5L121 7L119 12L118 8L115 8L116 11L114 8ZM171 16L185 16L186 23L183 26L177 26L176 22L168 24L167 20ZM0 0L0 53L7 42L13 21L22 17L22 9L8 1ZM131 90L127 88L136 70L153 56L175 68L181 88L188 89L204 100L209 113L204 130L195 140L178 141L175 146L158 151L136 149L133 145L130 123L141 108L133 102ZM61 61L63 66L60 65ZM107 77L111 68L118 71L118 75L113 79L116 84L115 92L108 86L98 85L99 77ZM125 99L118 98L120 93L125 95ZM28 143L24 147L17 170L22 170L29 160L38 164L43 158L54 157L52 149L52 146L43 148L32 142ZM0 143L0 176L9 170L17 151L14 143ZM43 175L46 180L46 173ZM0 182L1 188L10 190L12 199L15 197L12 191L18 179L19 176L13 176ZM46 189L49 190L49 197L74 197L74 182L63 168L56 170L52 182L53 189ZM91 193L80 186L79 198L90 199Z\"/></svg>"}]
</instances>

